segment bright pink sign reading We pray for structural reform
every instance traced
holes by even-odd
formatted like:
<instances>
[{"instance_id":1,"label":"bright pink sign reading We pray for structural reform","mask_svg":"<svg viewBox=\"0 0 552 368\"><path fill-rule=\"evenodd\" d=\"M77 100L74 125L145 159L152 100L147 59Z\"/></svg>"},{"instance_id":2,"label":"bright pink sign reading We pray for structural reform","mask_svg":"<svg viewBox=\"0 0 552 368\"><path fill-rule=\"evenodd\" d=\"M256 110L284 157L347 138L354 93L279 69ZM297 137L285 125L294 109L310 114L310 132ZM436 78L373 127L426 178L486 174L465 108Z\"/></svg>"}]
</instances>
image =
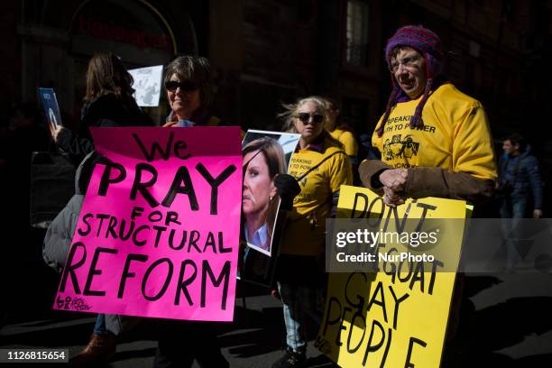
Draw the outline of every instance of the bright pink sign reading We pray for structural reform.
<instances>
[{"instance_id":1,"label":"bright pink sign reading We pray for structural reform","mask_svg":"<svg viewBox=\"0 0 552 368\"><path fill-rule=\"evenodd\" d=\"M231 321L238 127L93 128L98 163L54 308Z\"/></svg>"}]
</instances>

